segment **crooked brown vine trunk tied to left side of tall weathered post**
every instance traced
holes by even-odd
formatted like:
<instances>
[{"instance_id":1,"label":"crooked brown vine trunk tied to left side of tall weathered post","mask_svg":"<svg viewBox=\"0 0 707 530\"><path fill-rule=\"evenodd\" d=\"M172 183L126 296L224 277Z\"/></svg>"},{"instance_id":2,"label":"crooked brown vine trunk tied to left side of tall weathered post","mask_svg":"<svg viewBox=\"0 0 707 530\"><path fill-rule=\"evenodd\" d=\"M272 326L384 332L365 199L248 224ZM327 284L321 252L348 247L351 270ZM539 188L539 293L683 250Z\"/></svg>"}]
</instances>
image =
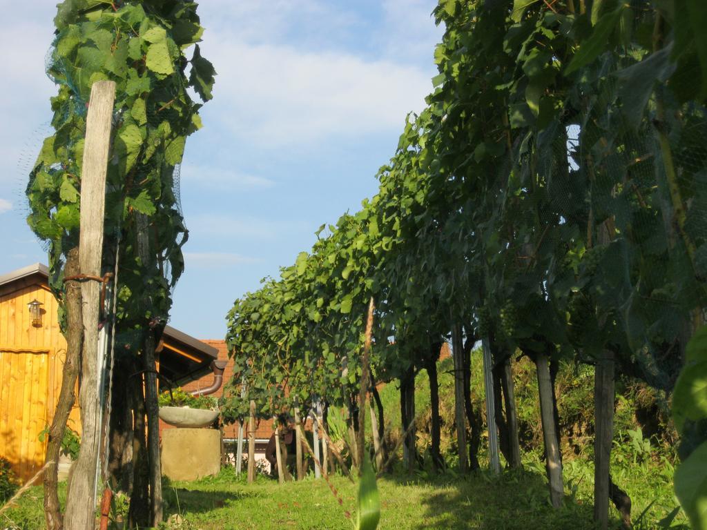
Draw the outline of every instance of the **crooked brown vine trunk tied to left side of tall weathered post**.
<instances>
[{"instance_id":1,"label":"crooked brown vine trunk tied to left side of tall weathered post","mask_svg":"<svg viewBox=\"0 0 707 530\"><path fill-rule=\"evenodd\" d=\"M64 276L78 274L78 248L69 250L64 266ZM69 420L71 407L76 401L76 377L78 376L78 362L83 341L83 324L81 321L81 286L76 282L66 283L66 360L62 376L62 389L59 391L57 410L54 412L52 426L49 428L49 442L47 443L47 457L45 462L53 464L48 466L44 473L44 508L45 521L48 530L60 530L63 520L59 510L59 495L57 494L57 464L59 453L62 449L64 430Z\"/></svg>"}]
</instances>

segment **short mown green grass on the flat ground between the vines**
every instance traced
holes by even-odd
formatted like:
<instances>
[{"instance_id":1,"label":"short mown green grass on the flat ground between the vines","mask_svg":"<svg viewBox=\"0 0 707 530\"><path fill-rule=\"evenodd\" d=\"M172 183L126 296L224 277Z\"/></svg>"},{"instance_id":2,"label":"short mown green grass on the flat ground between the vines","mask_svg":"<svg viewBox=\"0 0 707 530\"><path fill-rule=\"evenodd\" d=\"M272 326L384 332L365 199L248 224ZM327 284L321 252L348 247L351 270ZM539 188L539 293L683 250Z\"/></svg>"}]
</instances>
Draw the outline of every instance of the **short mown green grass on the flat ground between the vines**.
<instances>
[{"instance_id":1,"label":"short mown green grass on the flat ground between the vines","mask_svg":"<svg viewBox=\"0 0 707 530\"><path fill-rule=\"evenodd\" d=\"M494 478L488 472L457 476L419 473L399 474L378 481L382 504L379 528L385 529L571 529L590 530L592 525L592 478L589 466L571 464L566 469L566 502L560 510L549 505L542 464L525 471L506 471ZM635 478L635 477L634 477ZM631 481L636 500L634 521L650 501L641 495L667 492L665 478L645 476ZM307 478L279 485L259 477L253 484L236 478L233 469L219 476L189 483L165 484L165 528L173 530L217 529L351 529L346 510L355 517L356 486L337 476L339 506L327 483ZM62 485L62 497L64 487ZM658 528L658 520L672 510L669 493L655 498L636 529ZM119 508L120 510L120 508ZM122 510L120 510L122 511ZM612 509L613 511L613 509ZM175 516L179 521L175 522ZM614 512L614 528L619 528ZM0 528L41 529L42 489L32 488L17 507L0 515ZM115 526L114 526L115 528ZM687 529L679 516L672 528Z\"/></svg>"}]
</instances>

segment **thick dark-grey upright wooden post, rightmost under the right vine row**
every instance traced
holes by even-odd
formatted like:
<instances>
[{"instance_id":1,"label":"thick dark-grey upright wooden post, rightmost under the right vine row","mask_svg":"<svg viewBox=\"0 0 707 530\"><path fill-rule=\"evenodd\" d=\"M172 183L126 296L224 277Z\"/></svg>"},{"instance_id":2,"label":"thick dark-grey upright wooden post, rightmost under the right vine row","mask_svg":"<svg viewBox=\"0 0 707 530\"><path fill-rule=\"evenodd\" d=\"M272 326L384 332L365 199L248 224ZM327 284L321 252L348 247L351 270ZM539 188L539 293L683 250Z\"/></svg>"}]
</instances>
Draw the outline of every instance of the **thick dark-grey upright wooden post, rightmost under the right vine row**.
<instances>
[{"instance_id":1,"label":"thick dark-grey upright wooden post, rightmost under the right vine row","mask_svg":"<svg viewBox=\"0 0 707 530\"><path fill-rule=\"evenodd\" d=\"M614 352L597 359L594 375L594 521L609 526L609 463L614 438Z\"/></svg>"}]
</instances>

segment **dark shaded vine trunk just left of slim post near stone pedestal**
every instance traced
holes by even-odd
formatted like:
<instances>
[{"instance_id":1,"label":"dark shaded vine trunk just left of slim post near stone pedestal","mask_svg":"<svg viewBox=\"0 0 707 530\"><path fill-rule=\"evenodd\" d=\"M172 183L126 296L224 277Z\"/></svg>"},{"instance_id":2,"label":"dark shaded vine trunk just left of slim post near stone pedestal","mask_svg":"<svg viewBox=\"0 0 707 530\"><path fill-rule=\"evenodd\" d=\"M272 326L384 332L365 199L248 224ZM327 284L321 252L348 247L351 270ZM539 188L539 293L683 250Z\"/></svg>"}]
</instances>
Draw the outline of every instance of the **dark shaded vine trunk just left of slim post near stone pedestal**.
<instances>
[{"instance_id":1,"label":"dark shaded vine trunk just left of slim post near stone pedestal","mask_svg":"<svg viewBox=\"0 0 707 530\"><path fill-rule=\"evenodd\" d=\"M139 363L136 363L139 366ZM132 433L132 491L128 509L128 528L150 526L150 473L146 443L144 378L132 377L131 408L133 411Z\"/></svg>"}]
</instances>

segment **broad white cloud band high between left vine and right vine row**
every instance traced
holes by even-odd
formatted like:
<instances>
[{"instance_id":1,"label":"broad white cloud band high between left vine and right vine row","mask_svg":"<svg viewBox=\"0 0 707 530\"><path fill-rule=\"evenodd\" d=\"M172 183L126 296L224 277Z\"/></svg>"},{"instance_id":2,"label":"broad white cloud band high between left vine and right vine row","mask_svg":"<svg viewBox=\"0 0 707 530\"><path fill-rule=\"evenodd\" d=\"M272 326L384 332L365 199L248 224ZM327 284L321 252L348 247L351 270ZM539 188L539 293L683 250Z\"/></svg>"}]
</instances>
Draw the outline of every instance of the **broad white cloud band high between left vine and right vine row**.
<instances>
[{"instance_id":1,"label":"broad white cloud band high between left vine and right vine row","mask_svg":"<svg viewBox=\"0 0 707 530\"><path fill-rule=\"evenodd\" d=\"M259 147L402 129L432 88L420 69L391 61L251 46L213 34L209 42L204 56L218 65L218 78L206 123L218 119L236 139Z\"/></svg>"}]
</instances>

